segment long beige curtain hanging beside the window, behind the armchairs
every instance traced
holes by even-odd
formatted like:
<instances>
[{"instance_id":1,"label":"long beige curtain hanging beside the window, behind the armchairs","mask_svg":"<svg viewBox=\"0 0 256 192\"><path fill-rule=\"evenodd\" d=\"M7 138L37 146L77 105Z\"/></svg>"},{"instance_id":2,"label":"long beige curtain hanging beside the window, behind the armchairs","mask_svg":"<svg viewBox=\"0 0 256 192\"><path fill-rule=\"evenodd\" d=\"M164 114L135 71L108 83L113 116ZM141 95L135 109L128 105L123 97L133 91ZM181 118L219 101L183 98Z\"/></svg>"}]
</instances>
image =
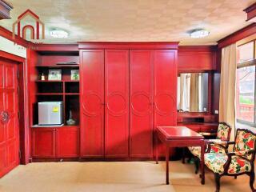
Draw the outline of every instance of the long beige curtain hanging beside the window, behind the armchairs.
<instances>
[{"instance_id":1,"label":"long beige curtain hanging beside the window, behind the armchairs","mask_svg":"<svg viewBox=\"0 0 256 192\"><path fill-rule=\"evenodd\" d=\"M222 48L222 70L219 98L219 122L226 122L232 127L230 140L235 134L235 79L237 70L236 45Z\"/></svg>"}]
</instances>

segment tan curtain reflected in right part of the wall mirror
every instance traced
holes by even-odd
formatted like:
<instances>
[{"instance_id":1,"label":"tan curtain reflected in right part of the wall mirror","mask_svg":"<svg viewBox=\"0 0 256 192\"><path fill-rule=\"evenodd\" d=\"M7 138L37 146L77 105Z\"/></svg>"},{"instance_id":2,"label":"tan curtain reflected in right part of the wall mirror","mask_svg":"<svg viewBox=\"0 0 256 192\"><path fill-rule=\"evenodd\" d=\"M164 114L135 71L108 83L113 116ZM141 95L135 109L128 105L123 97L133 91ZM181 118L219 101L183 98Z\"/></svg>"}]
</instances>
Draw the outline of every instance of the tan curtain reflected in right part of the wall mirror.
<instances>
[{"instance_id":1,"label":"tan curtain reflected in right part of the wall mirror","mask_svg":"<svg viewBox=\"0 0 256 192\"><path fill-rule=\"evenodd\" d=\"M199 96L198 96L198 73L191 74L190 77L190 112L198 112Z\"/></svg>"}]
</instances>

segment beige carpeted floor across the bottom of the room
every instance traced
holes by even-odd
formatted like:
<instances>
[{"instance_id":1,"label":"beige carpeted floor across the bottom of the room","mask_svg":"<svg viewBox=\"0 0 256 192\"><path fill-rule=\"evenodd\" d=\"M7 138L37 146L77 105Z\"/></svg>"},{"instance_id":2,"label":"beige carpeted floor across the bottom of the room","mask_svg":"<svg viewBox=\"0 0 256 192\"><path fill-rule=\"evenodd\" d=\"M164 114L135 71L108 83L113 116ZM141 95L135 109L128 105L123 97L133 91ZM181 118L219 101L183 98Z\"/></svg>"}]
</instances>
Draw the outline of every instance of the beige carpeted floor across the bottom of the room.
<instances>
[{"instance_id":1,"label":"beige carpeted floor across the bottom of the room","mask_svg":"<svg viewBox=\"0 0 256 192\"><path fill-rule=\"evenodd\" d=\"M212 191L214 175L206 171L206 185L194 166L170 162L170 185L160 162L41 162L18 166L0 179L1 192L172 192ZM250 191L249 177L222 178L221 191Z\"/></svg>"}]
</instances>

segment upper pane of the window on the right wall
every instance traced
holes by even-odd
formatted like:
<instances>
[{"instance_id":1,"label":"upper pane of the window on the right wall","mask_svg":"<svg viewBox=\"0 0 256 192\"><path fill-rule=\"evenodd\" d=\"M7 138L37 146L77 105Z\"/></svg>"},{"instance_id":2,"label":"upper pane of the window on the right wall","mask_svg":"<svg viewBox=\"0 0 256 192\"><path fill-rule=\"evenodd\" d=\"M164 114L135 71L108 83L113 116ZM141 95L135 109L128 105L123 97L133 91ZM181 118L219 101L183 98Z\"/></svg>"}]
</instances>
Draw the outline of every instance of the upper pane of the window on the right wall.
<instances>
[{"instance_id":1,"label":"upper pane of the window on the right wall","mask_svg":"<svg viewBox=\"0 0 256 192\"><path fill-rule=\"evenodd\" d=\"M238 46L238 62L247 62L254 59L254 42Z\"/></svg>"}]
</instances>

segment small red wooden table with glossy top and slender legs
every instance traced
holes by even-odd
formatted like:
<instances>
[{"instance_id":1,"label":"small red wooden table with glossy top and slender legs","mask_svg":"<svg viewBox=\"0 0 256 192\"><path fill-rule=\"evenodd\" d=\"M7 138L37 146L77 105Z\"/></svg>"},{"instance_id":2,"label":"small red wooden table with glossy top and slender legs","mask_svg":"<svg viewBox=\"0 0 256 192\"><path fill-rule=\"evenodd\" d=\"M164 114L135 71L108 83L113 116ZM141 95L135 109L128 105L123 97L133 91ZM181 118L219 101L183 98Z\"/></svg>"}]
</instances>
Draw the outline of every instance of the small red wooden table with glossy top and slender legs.
<instances>
[{"instance_id":1,"label":"small red wooden table with glossy top and slender legs","mask_svg":"<svg viewBox=\"0 0 256 192\"><path fill-rule=\"evenodd\" d=\"M205 142L201 134L186 126L158 126L156 129L156 145L158 140L166 145L166 185L169 184L169 151L170 147L201 146L201 183L205 184L204 152ZM156 163L158 164L158 147L156 147Z\"/></svg>"}]
</instances>

